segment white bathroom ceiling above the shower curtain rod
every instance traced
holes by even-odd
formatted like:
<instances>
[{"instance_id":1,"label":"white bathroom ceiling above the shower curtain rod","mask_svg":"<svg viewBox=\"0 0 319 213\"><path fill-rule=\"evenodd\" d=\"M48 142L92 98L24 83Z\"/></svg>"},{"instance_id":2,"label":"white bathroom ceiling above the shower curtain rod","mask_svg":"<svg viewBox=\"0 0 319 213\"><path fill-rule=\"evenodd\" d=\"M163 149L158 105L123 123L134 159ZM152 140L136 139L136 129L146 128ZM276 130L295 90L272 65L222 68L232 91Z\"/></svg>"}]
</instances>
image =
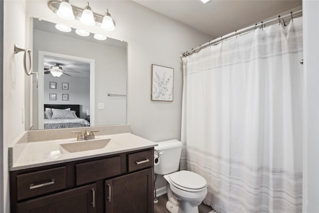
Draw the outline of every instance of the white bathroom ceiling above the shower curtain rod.
<instances>
[{"instance_id":1,"label":"white bathroom ceiling above the shower curtain rod","mask_svg":"<svg viewBox=\"0 0 319 213\"><path fill-rule=\"evenodd\" d=\"M212 39L302 5L302 0L135 0Z\"/></svg>"}]
</instances>

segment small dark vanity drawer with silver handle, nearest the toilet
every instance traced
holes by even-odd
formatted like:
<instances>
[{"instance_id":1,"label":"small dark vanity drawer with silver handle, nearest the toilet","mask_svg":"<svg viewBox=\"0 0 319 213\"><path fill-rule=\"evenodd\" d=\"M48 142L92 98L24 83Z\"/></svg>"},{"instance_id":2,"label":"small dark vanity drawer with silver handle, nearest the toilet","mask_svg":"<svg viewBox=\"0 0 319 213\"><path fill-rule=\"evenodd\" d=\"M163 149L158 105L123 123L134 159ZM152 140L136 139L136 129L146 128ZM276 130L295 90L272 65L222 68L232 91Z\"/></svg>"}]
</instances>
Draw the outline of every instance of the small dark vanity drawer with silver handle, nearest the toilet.
<instances>
[{"instance_id":1,"label":"small dark vanity drawer with silver handle, nearest the toilet","mask_svg":"<svg viewBox=\"0 0 319 213\"><path fill-rule=\"evenodd\" d=\"M128 155L129 172L153 166L153 150Z\"/></svg>"}]
</instances>

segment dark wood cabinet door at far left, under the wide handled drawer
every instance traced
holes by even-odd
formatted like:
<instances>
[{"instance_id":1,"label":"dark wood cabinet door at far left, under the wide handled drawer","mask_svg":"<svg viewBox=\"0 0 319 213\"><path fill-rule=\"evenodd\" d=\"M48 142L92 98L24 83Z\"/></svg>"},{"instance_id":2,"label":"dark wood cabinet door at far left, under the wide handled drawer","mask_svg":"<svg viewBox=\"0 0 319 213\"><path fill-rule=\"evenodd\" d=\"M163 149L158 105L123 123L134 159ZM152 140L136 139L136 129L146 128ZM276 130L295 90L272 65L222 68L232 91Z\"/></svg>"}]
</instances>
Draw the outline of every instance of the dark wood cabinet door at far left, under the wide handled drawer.
<instances>
[{"instance_id":1,"label":"dark wood cabinet door at far left, under the wide handled drawer","mask_svg":"<svg viewBox=\"0 0 319 213\"><path fill-rule=\"evenodd\" d=\"M96 184L17 204L17 213L95 213Z\"/></svg>"}]
</instances>

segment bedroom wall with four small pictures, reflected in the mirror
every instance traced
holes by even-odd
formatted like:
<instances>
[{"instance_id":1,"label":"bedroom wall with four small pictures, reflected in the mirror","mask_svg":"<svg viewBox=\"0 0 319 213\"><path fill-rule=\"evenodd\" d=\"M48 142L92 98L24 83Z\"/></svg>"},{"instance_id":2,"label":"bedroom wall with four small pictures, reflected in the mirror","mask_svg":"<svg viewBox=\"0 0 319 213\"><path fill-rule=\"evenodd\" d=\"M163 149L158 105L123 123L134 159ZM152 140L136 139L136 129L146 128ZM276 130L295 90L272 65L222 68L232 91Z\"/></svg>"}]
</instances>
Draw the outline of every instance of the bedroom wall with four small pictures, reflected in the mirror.
<instances>
[{"instance_id":1,"label":"bedroom wall with four small pictures, reflected in the mirror","mask_svg":"<svg viewBox=\"0 0 319 213\"><path fill-rule=\"evenodd\" d=\"M89 72L89 71L88 71ZM50 82L56 82L56 89L50 89ZM62 89L62 83L68 83L69 89ZM55 93L56 100L50 100L49 94ZM69 100L63 101L62 94L69 94ZM44 75L44 104L79 104L80 118L86 118L86 110L90 109L90 78L78 78L62 75L54 77Z\"/></svg>"}]
</instances>

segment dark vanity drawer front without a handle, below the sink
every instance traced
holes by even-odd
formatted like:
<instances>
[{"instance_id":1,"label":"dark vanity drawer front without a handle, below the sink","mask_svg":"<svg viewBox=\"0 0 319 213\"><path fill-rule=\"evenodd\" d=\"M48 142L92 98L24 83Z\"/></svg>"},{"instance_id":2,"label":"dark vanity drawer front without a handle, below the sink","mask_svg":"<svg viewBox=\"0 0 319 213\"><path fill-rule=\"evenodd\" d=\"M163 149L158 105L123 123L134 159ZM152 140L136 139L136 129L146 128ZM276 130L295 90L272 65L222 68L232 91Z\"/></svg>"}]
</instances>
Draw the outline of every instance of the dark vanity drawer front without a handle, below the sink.
<instances>
[{"instance_id":1,"label":"dark vanity drawer front without a handle, below the sink","mask_svg":"<svg viewBox=\"0 0 319 213\"><path fill-rule=\"evenodd\" d=\"M76 185L86 184L121 174L121 157L77 164L75 168Z\"/></svg>"}]
</instances>

